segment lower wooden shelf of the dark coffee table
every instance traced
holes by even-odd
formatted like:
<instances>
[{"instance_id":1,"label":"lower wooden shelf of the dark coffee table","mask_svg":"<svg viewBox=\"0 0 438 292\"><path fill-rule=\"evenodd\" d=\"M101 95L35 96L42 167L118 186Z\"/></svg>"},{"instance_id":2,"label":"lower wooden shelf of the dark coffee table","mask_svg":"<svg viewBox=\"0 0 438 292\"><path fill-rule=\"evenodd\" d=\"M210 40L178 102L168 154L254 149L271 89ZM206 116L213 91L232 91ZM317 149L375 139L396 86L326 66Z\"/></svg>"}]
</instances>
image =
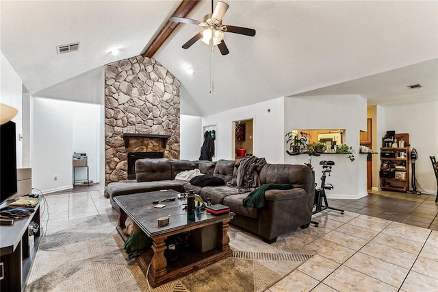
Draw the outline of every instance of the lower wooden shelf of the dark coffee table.
<instances>
[{"instance_id":1,"label":"lower wooden shelf of the dark coffee table","mask_svg":"<svg viewBox=\"0 0 438 292\"><path fill-rule=\"evenodd\" d=\"M123 241L126 241L128 236L123 233L120 226L116 226L118 234L122 237ZM218 260L227 258L233 254L232 250L221 251L218 248L209 250L208 252L199 252L195 247L190 247L187 250L179 253L178 260L173 263L168 263L166 266L167 273L163 276L156 276L155 279L151 274L151 269L148 267L152 261L154 252L153 250L147 250L136 258L136 262L142 269L145 276L148 277L149 283L152 287L158 287L166 282L177 280L182 276L188 275L198 269L203 269L208 265L216 263Z\"/></svg>"}]
</instances>

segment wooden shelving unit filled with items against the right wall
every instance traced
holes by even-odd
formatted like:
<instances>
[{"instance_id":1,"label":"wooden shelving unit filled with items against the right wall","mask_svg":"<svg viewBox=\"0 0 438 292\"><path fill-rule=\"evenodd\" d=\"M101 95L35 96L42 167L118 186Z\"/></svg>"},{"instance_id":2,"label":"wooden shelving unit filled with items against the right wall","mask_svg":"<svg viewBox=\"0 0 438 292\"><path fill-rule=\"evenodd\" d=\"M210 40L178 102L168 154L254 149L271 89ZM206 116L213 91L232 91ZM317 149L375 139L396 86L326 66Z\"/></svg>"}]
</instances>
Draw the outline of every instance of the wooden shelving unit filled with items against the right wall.
<instances>
[{"instance_id":1,"label":"wooden shelving unit filled with items against the right wall","mask_svg":"<svg viewBox=\"0 0 438 292\"><path fill-rule=\"evenodd\" d=\"M381 188L388 191L409 191L409 134L396 134L403 138L406 147L381 148ZM383 143L385 145L385 143ZM384 167L384 165L387 167Z\"/></svg>"}]
</instances>

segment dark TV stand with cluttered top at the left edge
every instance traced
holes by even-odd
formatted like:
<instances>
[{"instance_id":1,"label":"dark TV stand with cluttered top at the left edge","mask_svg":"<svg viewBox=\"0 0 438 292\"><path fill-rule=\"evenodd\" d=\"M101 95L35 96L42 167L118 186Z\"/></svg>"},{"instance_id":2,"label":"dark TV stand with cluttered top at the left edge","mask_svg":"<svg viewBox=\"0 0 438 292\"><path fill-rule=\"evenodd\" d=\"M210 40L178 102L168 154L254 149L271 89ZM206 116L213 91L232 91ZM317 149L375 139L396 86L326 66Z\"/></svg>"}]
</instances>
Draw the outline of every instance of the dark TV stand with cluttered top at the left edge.
<instances>
[{"instance_id":1,"label":"dark TV stand with cluttered top at the left edge","mask_svg":"<svg viewBox=\"0 0 438 292\"><path fill-rule=\"evenodd\" d=\"M39 199L41 202L42 197L39 197ZM35 212L29 217L14 219L14 223L9 226L0 225L1 292L21 292L25 289L27 276L34 261L36 250L38 250L40 235L42 234L40 202L34 207ZM7 202L3 203L1 207L4 208L5 206L8 206ZM31 236L29 236L29 224L32 221L40 226L38 232L34 234L33 244Z\"/></svg>"}]
</instances>

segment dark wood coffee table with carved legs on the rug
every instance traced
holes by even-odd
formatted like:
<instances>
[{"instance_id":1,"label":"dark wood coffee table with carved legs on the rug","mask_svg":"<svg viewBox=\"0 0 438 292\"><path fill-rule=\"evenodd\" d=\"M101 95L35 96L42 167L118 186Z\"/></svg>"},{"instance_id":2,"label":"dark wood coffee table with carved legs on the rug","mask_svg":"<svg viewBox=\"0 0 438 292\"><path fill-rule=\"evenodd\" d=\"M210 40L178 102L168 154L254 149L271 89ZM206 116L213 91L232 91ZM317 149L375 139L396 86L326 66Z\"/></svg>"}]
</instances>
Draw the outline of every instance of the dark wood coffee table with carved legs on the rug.
<instances>
[{"instance_id":1,"label":"dark wood coffee table with carved legs on the rug","mask_svg":"<svg viewBox=\"0 0 438 292\"><path fill-rule=\"evenodd\" d=\"M177 191L169 190L114 197L114 202L120 206L120 219L116 229L123 240L127 240L127 236L123 234L127 217L131 217L138 227L153 240L152 250L143 252L136 260L154 288L216 263L233 253L229 247L228 229L229 221L233 219L234 214L231 212L223 215L211 215L203 212L201 217L190 221L187 218L187 212L181 208L187 203L187 199L177 198L173 202L161 202L167 197L176 198L177 194ZM166 207L155 208L155 204L152 203L155 199L160 201L159 204L165 204ZM170 215L168 226L159 227L157 219L168 215ZM196 248L190 247L179 253L176 262L167 263L164 251L167 248L165 241L168 236L211 225L218 227L216 249L199 252ZM151 263L151 268L148 272L149 263Z\"/></svg>"}]
</instances>

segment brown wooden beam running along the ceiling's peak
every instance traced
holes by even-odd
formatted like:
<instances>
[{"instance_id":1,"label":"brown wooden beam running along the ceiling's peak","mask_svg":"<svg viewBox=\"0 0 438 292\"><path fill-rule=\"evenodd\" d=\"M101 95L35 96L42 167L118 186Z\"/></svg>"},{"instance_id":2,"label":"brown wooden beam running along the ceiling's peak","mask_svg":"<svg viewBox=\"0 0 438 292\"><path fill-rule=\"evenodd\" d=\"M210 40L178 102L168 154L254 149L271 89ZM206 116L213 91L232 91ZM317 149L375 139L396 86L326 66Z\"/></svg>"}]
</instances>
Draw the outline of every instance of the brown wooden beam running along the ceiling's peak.
<instances>
[{"instance_id":1,"label":"brown wooden beam running along the ceiling's peak","mask_svg":"<svg viewBox=\"0 0 438 292\"><path fill-rule=\"evenodd\" d=\"M195 8L201 0L183 0L181 4L179 4L177 10L172 14L172 16L177 17L186 17L188 14ZM173 33L173 31L177 28L181 23L175 23L173 21L167 21L166 25L162 28L162 30L157 34L155 39L151 42L151 45L144 49L143 56L152 58L155 53L157 53L158 49L162 47L164 42L169 38L169 36Z\"/></svg>"}]
</instances>

